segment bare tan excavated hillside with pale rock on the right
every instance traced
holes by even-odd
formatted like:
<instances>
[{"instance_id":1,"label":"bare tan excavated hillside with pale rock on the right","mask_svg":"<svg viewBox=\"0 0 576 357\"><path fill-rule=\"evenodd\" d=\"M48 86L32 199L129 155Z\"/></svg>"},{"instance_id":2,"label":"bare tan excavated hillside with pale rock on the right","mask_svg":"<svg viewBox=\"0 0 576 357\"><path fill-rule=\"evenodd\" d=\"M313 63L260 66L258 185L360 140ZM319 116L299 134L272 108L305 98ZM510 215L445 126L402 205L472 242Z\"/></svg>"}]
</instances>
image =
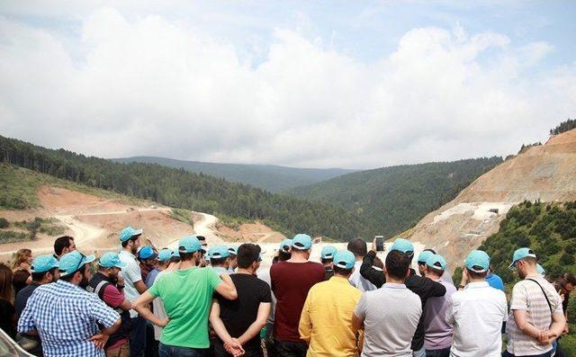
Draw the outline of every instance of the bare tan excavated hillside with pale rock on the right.
<instances>
[{"instance_id":1,"label":"bare tan excavated hillside with pale rock on the right","mask_svg":"<svg viewBox=\"0 0 576 357\"><path fill-rule=\"evenodd\" d=\"M455 200L429 213L409 237L444 254L450 269L498 232L510 207L521 201L576 200L576 129L550 138L483 174Z\"/></svg>"}]
</instances>

